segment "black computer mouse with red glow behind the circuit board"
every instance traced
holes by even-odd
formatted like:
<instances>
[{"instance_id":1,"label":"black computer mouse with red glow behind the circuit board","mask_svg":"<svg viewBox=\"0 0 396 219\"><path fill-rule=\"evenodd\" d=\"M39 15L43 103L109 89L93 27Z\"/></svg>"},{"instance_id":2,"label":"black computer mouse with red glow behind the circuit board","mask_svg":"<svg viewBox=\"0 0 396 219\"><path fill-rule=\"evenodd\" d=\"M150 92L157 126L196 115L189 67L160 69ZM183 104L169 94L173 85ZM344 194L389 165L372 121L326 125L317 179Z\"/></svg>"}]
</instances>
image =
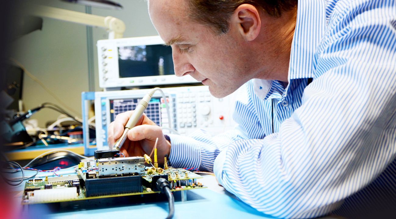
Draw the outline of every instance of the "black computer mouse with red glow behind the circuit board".
<instances>
[{"instance_id":1,"label":"black computer mouse with red glow behind the circuit board","mask_svg":"<svg viewBox=\"0 0 396 219\"><path fill-rule=\"evenodd\" d=\"M53 170L56 167L68 168L78 165L81 158L78 155L68 151L55 151L34 160L29 164L30 168L38 170Z\"/></svg>"}]
</instances>

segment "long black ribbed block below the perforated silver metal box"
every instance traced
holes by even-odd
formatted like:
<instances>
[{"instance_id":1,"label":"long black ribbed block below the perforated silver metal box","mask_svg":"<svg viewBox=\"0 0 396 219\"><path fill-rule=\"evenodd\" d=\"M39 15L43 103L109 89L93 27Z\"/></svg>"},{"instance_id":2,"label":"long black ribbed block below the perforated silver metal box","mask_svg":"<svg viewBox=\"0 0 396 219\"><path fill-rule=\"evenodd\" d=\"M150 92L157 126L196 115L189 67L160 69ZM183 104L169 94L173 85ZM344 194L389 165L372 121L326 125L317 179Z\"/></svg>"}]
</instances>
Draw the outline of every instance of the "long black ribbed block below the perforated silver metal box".
<instances>
[{"instance_id":1,"label":"long black ribbed block below the perforated silver metal box","mask_svg":"<svg viewBox=\"0 0 396 219\"><path fill-rule=\"evenodd\" d=\"M140 175L85 180L86 197L106 194L138 193L142 191L142 177Z\"/></svg>"}]
</instances>

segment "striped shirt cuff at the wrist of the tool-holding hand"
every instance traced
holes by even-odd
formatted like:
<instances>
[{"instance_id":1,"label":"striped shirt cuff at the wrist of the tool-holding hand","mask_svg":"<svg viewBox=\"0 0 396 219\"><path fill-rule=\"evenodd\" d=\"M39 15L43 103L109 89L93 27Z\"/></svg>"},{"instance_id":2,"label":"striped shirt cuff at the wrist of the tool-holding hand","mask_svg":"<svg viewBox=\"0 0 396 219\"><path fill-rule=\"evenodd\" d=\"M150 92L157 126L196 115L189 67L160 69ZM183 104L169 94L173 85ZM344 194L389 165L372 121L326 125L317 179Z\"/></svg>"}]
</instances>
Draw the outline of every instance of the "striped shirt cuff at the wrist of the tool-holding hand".
<instances>
[{"instance_id":1,"label":"striped shirt cuff at the wrist of the tool-holding hand","mask_svg":"<svg viewBox=\"0 0 396 219\"><path fill-rule=\"evenodd\" d=\"M171 142L169 161L173 168L199 168L200 147L191 137L167 134Z\"/></svg>"}]
</instances>

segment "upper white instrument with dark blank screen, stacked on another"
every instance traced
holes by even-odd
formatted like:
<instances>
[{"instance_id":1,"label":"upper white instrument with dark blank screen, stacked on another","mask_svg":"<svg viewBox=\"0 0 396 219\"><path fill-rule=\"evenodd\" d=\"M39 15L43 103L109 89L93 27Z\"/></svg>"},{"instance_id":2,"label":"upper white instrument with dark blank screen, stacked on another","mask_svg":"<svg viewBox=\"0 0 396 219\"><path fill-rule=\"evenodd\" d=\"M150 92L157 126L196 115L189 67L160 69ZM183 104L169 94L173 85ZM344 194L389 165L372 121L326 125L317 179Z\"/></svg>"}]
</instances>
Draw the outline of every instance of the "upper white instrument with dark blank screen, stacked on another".
<instances>
[{"instance_id":1,"label":"upper white instrument with dark blank screen, stacked on another","mask_svg":"<svg viewBox=\"0 0 396 219\"><path fill-rule=\"evenodd\" d=\"M197 83L177 77L172 49L159 36L98 40L99 87L138 87Z\"/></svg>"}]
</instances>

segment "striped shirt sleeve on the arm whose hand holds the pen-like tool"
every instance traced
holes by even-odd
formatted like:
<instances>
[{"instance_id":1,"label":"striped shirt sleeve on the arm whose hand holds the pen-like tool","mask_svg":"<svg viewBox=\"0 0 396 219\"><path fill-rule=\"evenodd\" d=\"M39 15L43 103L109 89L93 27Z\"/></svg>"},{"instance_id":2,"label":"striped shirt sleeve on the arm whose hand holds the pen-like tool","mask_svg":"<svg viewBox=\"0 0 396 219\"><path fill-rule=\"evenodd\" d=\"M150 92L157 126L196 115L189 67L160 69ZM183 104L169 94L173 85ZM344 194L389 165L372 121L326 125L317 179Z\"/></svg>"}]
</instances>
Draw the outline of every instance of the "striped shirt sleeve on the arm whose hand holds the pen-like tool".
<instances>
[{"instance_id":1,"label":"striped shirt sleeve on the arm whose hand holds the pen-like tool","mask_svg":"<svg viewBox=\"0 0 396 219\"><path fill-rule=\"evenodd\" d=\"M213 172L215 158L232 142L265 137L257 113L253 104L249 101L246 91L246 85L243 85L238 93L238 101L235 103L232 118L239 125L234 130L215 137L202 129L188 137L167 134L171 142L169 159L173 167L199 168L200 170ZM249 130L256 131L251 132Z\"/></svg>"}]
</instances>

